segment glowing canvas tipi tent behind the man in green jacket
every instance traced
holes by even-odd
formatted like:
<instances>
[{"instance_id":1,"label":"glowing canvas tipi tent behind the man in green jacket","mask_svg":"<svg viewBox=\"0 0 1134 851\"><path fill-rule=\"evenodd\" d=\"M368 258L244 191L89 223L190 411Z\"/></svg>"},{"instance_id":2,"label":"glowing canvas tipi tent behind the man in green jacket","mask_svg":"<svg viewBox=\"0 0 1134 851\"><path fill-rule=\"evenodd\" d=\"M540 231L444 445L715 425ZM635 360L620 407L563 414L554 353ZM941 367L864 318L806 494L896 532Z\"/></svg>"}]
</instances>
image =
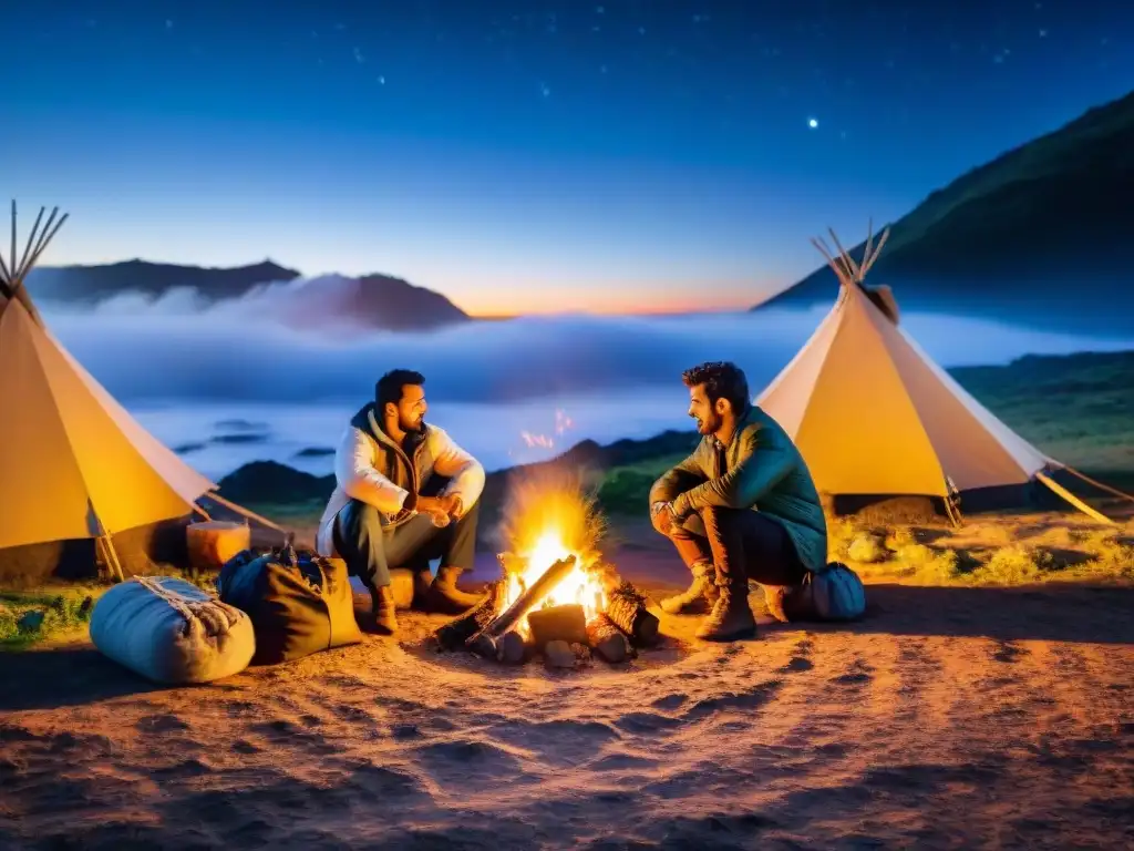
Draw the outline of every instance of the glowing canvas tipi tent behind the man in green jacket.
<instances>
[{"instance_id":1,"label":"glowing canvas tipi tent behind the man in green jacket","mask_svg":"<svg viewBox=\"0 0 1134 851\"><path fill-rule=\"evenodd\" d=\"M858 261L830 233L833 251L822 238L812 242L838 278L835 306L755 399L796 441L818 489L940 498L956 519L962 494L1039 480L1106 520L1050 478L1069 467L1015 433L922 351L900 326L888 287L866 287L889 230L877 245L869 233Z\"/></svg>"}]
</instances>

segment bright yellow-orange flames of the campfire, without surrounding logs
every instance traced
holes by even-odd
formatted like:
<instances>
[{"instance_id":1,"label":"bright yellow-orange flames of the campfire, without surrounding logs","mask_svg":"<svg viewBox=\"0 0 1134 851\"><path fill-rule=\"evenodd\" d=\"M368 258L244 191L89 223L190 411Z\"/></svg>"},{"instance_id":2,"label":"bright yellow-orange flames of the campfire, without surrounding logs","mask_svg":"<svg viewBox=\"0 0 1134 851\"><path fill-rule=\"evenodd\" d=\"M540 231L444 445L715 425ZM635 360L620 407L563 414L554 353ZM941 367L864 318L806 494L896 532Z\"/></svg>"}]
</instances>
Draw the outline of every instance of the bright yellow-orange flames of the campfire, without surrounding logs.
<instances>
[{"instance_id":1,"label":"bright yellow-orange flames of the campfire, without surrounding logs","mask_svg":"<svg viewBox=\"0 0 1134 851\"><path fill-rule=\"evenodd\" d=\"M544 598L540 608L578 604L587 618L606 608L595 566L603 522L581 483L565 475L525 477L509 489L503 537L516 570L508 572L502 608L507 608L556 562L575 556L575 567ZM527 618L518 624L528 631Z\"/></svg>"}]
</instances>

